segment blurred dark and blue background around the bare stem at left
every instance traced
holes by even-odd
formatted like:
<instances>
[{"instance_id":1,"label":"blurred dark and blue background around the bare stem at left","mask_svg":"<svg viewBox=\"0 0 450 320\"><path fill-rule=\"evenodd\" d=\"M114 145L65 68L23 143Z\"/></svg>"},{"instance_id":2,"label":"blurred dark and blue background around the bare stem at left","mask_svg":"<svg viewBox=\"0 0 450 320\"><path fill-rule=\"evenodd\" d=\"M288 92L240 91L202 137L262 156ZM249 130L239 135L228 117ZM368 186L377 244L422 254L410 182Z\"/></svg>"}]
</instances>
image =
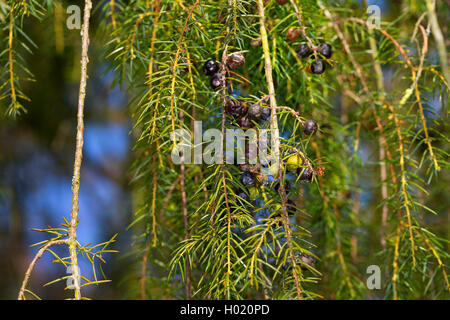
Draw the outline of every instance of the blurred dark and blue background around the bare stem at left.
<instances>
[{"instance_id":1,"label":"blurred dark and blue background around the bare stem at left","mask_svg":"<svg viewBox=\"0 0 450 320\"><path fill-rule=\"evenodd\" d=\"M395 0L359 1L359 5L379 5L382 18L391 21L402 10L399 3ZM78 4L82 8L82 1L66 1L66 4ZM129 167L134 137L126 88L114 83L113 71L108 69L104 58L103 37L97 31L101 14L101 4L97 3L91 25L78 239L82 244L100 243L118 233L113 249L119 253L107 255L104 266L113 281L89 286L84 295L122 299L127 298L127 286L136 285L133 284L135 279L127 276L134 266L126 254L132 241L132 230L127 227L133 212ZM35 82L23 83L31 99L25 103L28 112L16 119L8 118L3 112L6 102L0 101L0 299L17 297L26 267L36 252L30 245L47 237L30 229L56 227L63 222L63 216L70 216L80 34L79 30L66 28L66 17L63 7L52 10L42 21L32 18L25 21L25 30L38 47L32 55L23 52L27 67L36 78ZM444 17L441 21L449 20ZM448 23L441 25L445 35L448 27ZM438 59L436 52L431 52L433 54ZM391 79L394 74L389 69L385 69L384 74L386 83L394 82ZM433 100L432 95L428 98ZM437 102L436 105L440 105ZM365 149L364 142L361 150L363 161L370 162L373 150ZM370 189L375 186L370 185L369 179L364 183L364 176L361 179L362 206L370 208L376 203L370 198ZM370 192L364 193L364 190ZM446 212L440 219L448 223L446 192L441 189L432 196L438 204L437 211ZM55 250L67 255L58 248ZM66 270L52 264L51 260L51 255L43 256L30 284L41 297L61 299L64 298L61 296L64 283L42 287L65 275ZM86 259L81 259L80 268L92 278ZM64 294L70 296L67 291Z\"/></svg>"}]
</instances>

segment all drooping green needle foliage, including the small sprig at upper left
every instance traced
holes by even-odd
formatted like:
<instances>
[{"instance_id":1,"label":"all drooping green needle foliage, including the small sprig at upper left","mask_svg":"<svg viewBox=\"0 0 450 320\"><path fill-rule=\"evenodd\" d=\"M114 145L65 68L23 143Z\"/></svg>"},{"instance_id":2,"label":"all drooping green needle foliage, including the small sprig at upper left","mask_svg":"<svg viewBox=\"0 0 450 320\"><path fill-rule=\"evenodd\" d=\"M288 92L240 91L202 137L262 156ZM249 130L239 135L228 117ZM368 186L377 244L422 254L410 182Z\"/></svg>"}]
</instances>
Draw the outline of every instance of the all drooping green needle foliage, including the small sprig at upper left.
<instances>
[{"instance_id":1,"label":"all drooping green needle foliage, including the small sprig at upper left","mask_svg":"<svg viewBox=\"0 0 450 320\"><path fill-rule=\"evenodd\" d=\"M97 4L96 39L104 43L116 85L129 92L136 137L135 241L127 253L136 267L128 296L448 297L442 194L449 79L435 49L429 1L401 1L403 13L379 26L356 1L280 2ZM6 39L14 36L0 56L9 115L19 114L26 100L19 89L26 63L16 48L29 50L32 40L20 23L28 12L45 14L41 2L25 3L6 1L11 9L2 20L12 30ZM292 28L295 39L286 36ZM317 54L302 58L296 49L324 43L333 54L321 57L324 73L311 73ZM245 64L225 67L234 52ZM203 74L208 59L221 63L226 76L218 90ZM269 102L271 85L275 101ZM202 121L203 131L237 128L225 110L230 100L276 111L254 125L279 128L283 165L252 187L243 185L236 164L171 158L171 134L184 129L194 143L194 121ZM310 119L319 130L306 135ZM314 172L311 182L284 165L292 150ZM248 198L238 195L242 190ZM370 265L381 268L381 290L367 287Z\"/></svg>"}]
</instances>

